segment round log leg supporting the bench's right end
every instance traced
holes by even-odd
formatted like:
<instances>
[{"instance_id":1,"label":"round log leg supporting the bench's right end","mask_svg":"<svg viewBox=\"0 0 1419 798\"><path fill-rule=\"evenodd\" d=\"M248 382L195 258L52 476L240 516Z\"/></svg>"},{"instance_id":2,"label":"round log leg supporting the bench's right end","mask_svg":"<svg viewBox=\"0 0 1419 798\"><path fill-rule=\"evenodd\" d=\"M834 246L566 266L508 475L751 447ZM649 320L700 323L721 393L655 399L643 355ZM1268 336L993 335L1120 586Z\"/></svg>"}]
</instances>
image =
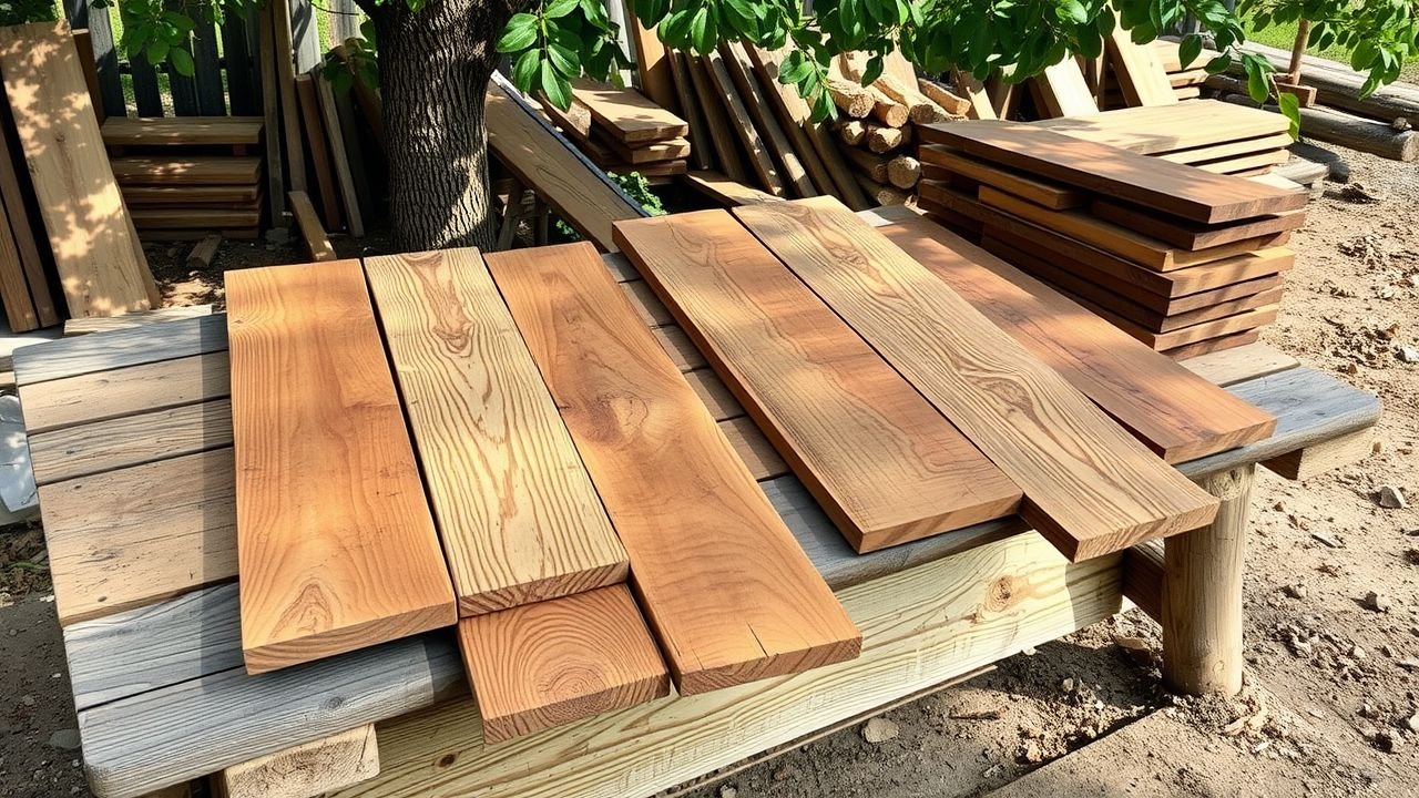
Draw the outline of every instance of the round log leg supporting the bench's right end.
<instances>
[{"instance_id":1,"label":"round log leg supporting the bench's right end","mask_svg":"<svg viewBox=\"0 0 1419 798\"><path fill-rule=\"evenodd\" d=\"M1200 696L1242 690L1242 572L1256 466L1199 480L1222 500L1208 527L1164 541L1162 677Z\"/></svg>"}]
</instances>

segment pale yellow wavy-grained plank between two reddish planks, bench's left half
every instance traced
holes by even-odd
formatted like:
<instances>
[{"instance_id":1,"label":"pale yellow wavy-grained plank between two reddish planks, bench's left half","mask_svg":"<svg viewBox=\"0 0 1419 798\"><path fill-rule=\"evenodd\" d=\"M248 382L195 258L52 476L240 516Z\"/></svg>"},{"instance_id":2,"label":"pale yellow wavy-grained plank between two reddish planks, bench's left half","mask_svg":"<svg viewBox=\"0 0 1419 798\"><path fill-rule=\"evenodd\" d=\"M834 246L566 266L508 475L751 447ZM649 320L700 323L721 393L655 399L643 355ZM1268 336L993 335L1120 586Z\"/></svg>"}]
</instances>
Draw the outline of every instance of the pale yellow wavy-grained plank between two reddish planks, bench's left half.
<instances>
[{"instance_id":1,"label":"pale yellow wavy-grained plank between two reddish planks, bench's left half","mask_svg":"<svg viewBox=\"0 0 1419 798\"><path fill-rule=\"evenodd\" d=\"M365 260L464 618L626 581L612 530L477 250Z\"/></svg>"}]
</instances>

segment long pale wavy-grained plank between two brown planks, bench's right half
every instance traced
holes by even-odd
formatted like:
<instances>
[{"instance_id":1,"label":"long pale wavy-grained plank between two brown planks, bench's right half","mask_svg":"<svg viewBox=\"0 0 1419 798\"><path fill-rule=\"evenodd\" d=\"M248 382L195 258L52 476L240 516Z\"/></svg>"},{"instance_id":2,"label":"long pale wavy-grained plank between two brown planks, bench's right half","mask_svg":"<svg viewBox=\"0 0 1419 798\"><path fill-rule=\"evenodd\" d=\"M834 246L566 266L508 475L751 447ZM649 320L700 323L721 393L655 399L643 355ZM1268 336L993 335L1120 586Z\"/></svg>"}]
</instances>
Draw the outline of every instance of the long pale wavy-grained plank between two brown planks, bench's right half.
<instances>
[{"instance_id":1,"label":"long pale wavy-grained plank between two brown planks, bench's right half","mask_svg":"<svg viewBox=\"0 0 1419 798\"><path fill-rule=\"evenodd\" d=\"M1070 559L1193 530L1216 513L1215 498L836 202L734 213L1020 486L1022 515Z\"/></svg>"}]
</instances>

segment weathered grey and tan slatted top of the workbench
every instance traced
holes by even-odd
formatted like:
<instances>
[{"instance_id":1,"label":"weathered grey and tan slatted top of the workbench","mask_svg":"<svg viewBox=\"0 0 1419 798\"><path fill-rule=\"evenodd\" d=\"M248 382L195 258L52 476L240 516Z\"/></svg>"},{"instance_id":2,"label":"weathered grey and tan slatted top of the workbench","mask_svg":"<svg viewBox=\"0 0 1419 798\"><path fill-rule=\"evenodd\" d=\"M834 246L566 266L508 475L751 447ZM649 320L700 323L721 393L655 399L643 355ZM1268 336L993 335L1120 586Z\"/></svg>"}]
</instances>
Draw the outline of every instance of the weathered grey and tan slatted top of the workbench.
<instances>
[{"instance_id":1,"label":"weathered grey and tan slatted top of the workbench","mask_svg":"<svg viewBox=\"0 0 1419 798\"><path fill-rule=\"evenodd\" d=\"M607 256L607 266L627 277L623 258ZM626 285L634 295L634 281ZM833 589L1027 531L1009 518L856 554L753 425L739 423L742 409L732 417L715 406L724 386L677 348L675 332L661 324L657 337L721 423L736 425L736 450ZM245 673L226 349L226 317L214 314L16 354L84 758L104 795L140 795L287 748L292 728L315 740L467 690L443 632ZM1186 365L1279 420L1267 440L1178 466L1193 479L1379 417L1374 395L1261 345ZM133 585L128 601L108 603Z\"/></svg>"}]
</instances>

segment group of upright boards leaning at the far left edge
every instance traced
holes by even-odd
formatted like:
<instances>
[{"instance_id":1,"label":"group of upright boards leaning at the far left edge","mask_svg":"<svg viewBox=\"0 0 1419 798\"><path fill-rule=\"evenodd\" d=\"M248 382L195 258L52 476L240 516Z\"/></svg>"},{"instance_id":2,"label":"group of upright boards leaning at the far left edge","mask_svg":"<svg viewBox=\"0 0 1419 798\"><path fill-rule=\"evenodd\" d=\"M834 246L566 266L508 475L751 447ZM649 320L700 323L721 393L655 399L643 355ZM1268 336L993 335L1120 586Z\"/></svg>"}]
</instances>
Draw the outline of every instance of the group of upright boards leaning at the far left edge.
<instances>
[{"instance_id":1,"label":"group of upright boards leaning at the far left edge","mask_svg":"<svg viewBox=\"0 0 1419 798\"><path fill-rule=\"evenodd\" d=\"M10 329L159 307L68 23L0 28L0 304Z\"/></svg>"}]
</instances>

